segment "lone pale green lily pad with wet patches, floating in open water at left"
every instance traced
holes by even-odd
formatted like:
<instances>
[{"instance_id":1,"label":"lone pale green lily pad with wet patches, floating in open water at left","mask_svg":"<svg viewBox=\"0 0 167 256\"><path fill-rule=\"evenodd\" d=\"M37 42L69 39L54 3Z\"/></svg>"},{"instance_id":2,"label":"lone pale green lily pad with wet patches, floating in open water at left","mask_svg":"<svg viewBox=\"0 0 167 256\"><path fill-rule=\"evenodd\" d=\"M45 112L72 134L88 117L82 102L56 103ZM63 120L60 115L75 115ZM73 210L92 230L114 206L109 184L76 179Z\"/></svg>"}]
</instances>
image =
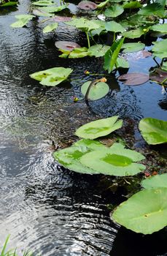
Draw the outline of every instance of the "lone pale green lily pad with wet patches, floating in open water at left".
<instances>
[{"instance_id":1,"label":"lone pale green lily pad with wet patches, floating in open water at left","mask_svg":"<svg viewBox=\"0 0 167 256\"><path fill-rule=\"evenodd\" d=\"M57 86L66 80L73 70L64 67L53 67L30 75L31 78L39 80L42 86Z\"/></svg>"}]
</instances>

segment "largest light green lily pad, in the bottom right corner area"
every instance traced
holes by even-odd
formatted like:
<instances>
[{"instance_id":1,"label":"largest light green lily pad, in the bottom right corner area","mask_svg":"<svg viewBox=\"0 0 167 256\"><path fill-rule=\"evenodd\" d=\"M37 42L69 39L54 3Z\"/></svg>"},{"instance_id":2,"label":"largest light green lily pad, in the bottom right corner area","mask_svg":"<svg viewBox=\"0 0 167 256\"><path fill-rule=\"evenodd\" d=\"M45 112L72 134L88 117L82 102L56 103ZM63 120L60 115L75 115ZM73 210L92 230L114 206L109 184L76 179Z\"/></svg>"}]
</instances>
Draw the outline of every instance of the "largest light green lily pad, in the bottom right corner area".
<instances>
[{"instance_id":1,"label":"largest light green lily pad, in the bottom right corner area","mask_svg":"<svg viewBox=\"0 0 167 256\"><path fill-rule=\"evenodd\" d=\"M135 231L152 234L167 225L167 188L144 189L112 214L114 221Z\"/></svg>"}]
</instances>

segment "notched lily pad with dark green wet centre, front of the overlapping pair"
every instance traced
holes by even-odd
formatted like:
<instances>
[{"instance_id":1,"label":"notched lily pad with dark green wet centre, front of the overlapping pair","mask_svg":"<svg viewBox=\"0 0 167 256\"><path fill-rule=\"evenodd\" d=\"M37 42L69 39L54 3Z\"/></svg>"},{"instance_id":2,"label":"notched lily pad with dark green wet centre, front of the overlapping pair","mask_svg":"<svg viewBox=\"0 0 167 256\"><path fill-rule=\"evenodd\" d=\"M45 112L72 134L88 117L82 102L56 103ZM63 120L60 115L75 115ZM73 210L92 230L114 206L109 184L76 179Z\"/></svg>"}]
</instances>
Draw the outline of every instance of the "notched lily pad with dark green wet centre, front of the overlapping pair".
<instances>
[{"instance_id":1,"label":"notched lily pad with dark green wet centre, front of the overlapping pair","mask_svg":"<svg viewBox=\"0 0 167 256\"><path fill-rule=\"evenodd\" d=\"M120 145L120 146L119 146ZM132 176L145 169L144 165L137 164L136 161L144 159L140 153L123 148L117 143L110 148L91 151L81 157L80 162L95 170L96 173L114 176Z\"/></svg>"}]
</instances>

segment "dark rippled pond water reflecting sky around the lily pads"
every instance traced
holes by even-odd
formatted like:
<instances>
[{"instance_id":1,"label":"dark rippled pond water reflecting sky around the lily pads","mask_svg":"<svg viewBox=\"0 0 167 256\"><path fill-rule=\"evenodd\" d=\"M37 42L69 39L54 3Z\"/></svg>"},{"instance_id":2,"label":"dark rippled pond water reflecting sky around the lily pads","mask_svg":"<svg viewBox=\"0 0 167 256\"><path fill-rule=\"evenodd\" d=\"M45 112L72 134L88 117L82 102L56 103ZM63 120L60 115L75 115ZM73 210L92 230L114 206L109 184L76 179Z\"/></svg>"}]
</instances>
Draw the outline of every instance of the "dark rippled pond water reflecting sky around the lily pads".
<instances>
[{"instance_id":1,"label":"dark rippled pond water reflecting sky around the lily pads","mask_svg":"<svg viewBox=\"0 0 167 256\"><path fill-rule=\"evenodd\" d=\"M99 186L101 176L63 170L52 157L54 145L68 146L74 130L93 119L119 114L136 122L148 116L167 120L166 94L156 83L128 87L111 77L104 99L90 108L74 103L88 80L84 70L103 72L101 60L58 59L56 40L86 42L63 24L46 36L38 20L10 28L14 15L28 13L30 4L24 0L12 12L0 10L0 245L11 234L10 247L30 248L34 255L167 255L166 230L141 236L110 220L106 204L119 203L123 192L107 194ZM29 78L58 66L74 69L71 78L77 80L46 88ZM152 58L131 59L131 71L147 72L150 66Z\"/></svg>"}]
</instances>

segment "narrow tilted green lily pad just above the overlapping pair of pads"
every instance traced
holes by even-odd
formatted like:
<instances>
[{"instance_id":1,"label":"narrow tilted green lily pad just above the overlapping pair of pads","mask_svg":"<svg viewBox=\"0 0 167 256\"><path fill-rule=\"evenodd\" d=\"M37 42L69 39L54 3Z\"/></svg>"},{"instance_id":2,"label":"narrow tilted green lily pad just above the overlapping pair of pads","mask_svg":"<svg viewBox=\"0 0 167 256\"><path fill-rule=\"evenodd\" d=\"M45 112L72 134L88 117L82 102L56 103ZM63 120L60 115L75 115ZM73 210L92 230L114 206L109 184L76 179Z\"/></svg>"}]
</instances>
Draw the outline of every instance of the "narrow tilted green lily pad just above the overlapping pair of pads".
<instances>
[{"instance_id":1,"label":"narrow tilted green lily pad just above the overlapping pair of pads","mask_svg":"<svg viewBox=\"0 0 167 256\"><path fill-rule=\"evenodd\" d=\"M109 135L115 129L120 129L123 120L117 121L118 116L103 118L96 121L91 121L88 124L82 125L75 132L75 135L85 139L96 139L101 136Z\"/></svg>"}]
</instances>

